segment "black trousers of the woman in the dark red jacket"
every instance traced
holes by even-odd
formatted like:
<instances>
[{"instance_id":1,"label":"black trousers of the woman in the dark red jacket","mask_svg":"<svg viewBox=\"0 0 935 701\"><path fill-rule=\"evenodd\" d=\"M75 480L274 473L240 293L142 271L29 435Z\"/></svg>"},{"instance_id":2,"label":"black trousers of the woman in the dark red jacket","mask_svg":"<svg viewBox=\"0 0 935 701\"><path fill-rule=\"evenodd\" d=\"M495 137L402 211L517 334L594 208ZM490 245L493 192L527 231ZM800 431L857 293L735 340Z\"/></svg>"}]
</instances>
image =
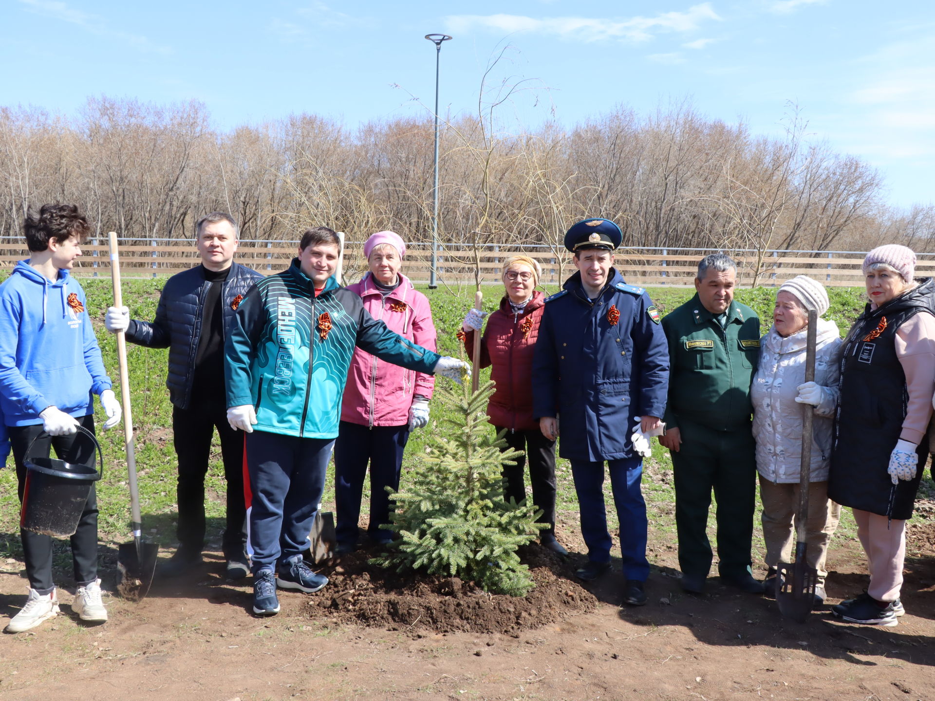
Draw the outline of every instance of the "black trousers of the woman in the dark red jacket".
<instances>
[{"instance_id":1,"label":"black trousers of the woman in the dark red jacket","mask_svg":"<svg viewBox=\"0 0 935 701\"><path fill-rule=\"evenodd\" d=\"M503 431L502 426L494 427L496 432ZM542 535L555 532L555 441L542 436L542 432L511 431L506 429L507 445L515 451L524 451L525 455L516 458L516 465L503 465L504 498L510 497L519 504L525 496L525 465L529 464L529 482L532 486L532 503L542 509L539 523L548 523L551 528L542 531Z\"/></svg>"}]
</instances>

